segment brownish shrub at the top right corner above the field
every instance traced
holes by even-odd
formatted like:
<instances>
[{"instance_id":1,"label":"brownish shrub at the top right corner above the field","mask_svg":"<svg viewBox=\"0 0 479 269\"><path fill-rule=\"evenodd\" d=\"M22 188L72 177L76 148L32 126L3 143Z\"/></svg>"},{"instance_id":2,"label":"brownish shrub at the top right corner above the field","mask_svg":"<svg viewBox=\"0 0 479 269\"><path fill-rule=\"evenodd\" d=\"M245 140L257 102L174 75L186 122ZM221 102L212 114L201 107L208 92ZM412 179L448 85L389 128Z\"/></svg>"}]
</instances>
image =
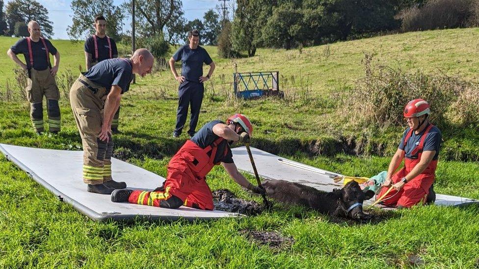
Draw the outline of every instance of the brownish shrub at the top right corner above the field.
<instances>
[{"instance_id":1,"label":"brownish shrub at the top right corner above the field","mask_svg":"<svg viewBox=\"0 0 479 269\"><path fill-rule=\"evenodd\" d=\"M476 6L474 0L429 0L422 7L411 7L399 14L402 31L457 28L469 24Z\"/></svg>"}]
</instances>

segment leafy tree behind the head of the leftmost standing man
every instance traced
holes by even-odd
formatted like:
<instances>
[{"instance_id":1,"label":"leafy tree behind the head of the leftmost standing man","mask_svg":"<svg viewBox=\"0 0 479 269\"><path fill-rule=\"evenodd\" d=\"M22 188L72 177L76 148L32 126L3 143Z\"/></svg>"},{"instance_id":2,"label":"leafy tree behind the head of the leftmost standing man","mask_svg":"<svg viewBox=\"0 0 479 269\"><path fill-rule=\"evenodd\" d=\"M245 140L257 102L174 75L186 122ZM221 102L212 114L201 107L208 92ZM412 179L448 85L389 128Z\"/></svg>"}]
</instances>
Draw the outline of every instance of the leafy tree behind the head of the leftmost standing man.
<instances>
[{"instance_id":1,"label":"leafy tree behind the head of the leftmost standing man","mask_svg":"<svg viewBox=\"0 0 479 269\"><path fill-rule=\"evenodd\" d=\"M11 0L7 3L5 13L10 35L14 34L17 22L27 24L29 21L36 21L44 36L53 36L53 23L48 18L48 10L36 0Z\"/></svg>"}]
</instances>

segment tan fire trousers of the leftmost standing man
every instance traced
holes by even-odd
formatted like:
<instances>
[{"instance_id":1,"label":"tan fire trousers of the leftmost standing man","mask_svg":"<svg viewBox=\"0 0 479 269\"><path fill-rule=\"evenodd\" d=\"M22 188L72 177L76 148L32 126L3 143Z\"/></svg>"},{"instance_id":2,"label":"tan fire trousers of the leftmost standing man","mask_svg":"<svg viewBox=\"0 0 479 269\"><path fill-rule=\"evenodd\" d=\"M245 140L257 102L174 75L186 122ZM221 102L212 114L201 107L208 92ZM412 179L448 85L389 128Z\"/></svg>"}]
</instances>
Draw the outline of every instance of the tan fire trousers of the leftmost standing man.
<instances>
[{"instance_id":1,"label":"tan fire trousers of the leftmost standing man","mask_svg":"<svg viewBox=\"0 0 479 269\"><path fill-rule=\"evenodd\" d=\"M55 78L47 68L42 71L31 69L27 79L26 96L30 102L30 118L33 128L37 132L44 130L43 96L47 99L47 114L50 131L60 130L60 91L56 86Z\"/></svg>"}]
</instances>

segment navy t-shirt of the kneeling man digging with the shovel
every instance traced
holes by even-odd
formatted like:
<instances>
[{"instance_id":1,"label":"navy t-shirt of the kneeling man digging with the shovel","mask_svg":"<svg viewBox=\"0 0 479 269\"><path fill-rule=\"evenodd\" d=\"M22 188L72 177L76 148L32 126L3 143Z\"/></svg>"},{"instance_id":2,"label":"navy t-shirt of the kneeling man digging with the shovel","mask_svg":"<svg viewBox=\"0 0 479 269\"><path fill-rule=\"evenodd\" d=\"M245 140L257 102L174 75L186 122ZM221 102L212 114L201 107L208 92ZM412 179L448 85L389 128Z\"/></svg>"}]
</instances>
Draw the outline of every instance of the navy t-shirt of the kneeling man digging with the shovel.
<instances>
[{"instance_id":1,"label":"navy t-shirt of the kneeling man digging with the shovel","mask_svg":"<svg viewBox=\"0 0 479 269\"><path fill-rule=\"evenodd\" d=\"M191 138L196 145L201 148L208 147L213 144L213 142L219 138L219 136L213 133L213 126L218 123L224 123L219 120L215 120L213 122L208 122L201 129L196 132L196 134ZM225 147L227 147L226 155L224 155ZM210 153L211 154L211 153ZM210 155L211 156L211 155ZM219 145L218 149L216 150L216 156L214 156L213 162L219 163L223 162L226 164L232 164L233 162L233 153L231 152L231 148L228 146L228 142L223 140Z\"/></svg>"}]
</instances>

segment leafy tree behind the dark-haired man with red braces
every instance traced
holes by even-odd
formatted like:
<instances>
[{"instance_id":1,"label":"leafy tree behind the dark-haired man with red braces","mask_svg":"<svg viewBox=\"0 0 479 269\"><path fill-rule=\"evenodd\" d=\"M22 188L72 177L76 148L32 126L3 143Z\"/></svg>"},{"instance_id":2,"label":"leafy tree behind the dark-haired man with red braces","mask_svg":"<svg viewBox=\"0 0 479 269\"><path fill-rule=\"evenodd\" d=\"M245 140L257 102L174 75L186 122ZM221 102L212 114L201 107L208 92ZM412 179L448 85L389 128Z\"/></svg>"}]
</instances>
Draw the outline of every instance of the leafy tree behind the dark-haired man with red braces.
<instances>
[{"instance_id":1,"label":"leafy tree behind the dark-haired man with red braces","mask_svg":"<svg viewBox=\"0 0 479 269\"><path fill-rule=\"evenodd\" d=\"M106 34L115 40L120 39L121 22L125 18L122 9L113 4L113 0L73 0L71 3L73 24L68 26L67 33L72 39L83 39L95 33L95 17L106 18Z\"/></svg>"}]
</instances>

